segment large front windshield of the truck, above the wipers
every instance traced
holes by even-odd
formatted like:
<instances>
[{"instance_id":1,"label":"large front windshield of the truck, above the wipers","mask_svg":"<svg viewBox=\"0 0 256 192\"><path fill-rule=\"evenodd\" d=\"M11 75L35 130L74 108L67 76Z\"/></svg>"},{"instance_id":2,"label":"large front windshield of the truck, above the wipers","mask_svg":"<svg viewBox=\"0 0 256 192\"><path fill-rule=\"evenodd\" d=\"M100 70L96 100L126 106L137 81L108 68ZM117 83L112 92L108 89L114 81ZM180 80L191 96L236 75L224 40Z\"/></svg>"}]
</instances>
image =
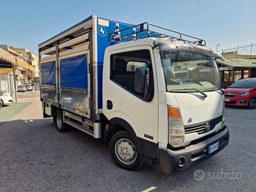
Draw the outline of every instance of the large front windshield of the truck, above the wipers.
<instances>
[{"instance_id":1,"label":"large front windshield of the truck, above the wipers","mask_svg":"<svg viewBox=\"0 0 256 192\"><path fill-rule=\"evenodd\" d=\"M221 88L215 58L181 50L160 50L169 92L213 91Z\"/></svg>"}]
</instances>

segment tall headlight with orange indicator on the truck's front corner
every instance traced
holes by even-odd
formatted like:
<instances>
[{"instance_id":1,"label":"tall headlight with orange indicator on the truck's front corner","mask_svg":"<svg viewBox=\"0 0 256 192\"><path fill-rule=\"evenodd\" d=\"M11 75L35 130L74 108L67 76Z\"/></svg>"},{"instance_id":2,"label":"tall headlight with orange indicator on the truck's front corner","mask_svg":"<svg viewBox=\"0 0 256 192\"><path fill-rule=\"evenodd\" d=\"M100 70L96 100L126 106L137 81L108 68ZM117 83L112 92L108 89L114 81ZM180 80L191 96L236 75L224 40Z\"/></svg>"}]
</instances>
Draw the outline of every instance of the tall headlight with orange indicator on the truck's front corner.
<instances>
[{"instance_id":1,"label":"tall headlight with orange indicator on the truck's front corner","mask_svg":"<svg viewBox=\"0 0 256 192\"><path fill-rule=\"evenodd\" d=\"M168 106L169 144L173 147L183 146L185 131L181 112L176 107Z\"/></svg>"}]
</instances>

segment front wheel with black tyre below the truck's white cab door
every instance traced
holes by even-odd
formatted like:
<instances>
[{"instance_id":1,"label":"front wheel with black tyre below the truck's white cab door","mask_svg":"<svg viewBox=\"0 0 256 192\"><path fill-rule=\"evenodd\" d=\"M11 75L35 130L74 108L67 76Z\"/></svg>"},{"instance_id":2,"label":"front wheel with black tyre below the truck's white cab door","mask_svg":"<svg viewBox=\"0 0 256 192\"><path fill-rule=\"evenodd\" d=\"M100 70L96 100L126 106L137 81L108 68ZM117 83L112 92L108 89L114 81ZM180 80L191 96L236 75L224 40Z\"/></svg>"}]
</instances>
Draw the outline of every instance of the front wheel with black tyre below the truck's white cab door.
<instances>
[{"instance_id":1,"label":"front wheel with black tyre below the truck's white cab door","mask_svg":"<svg viewBox=\"0 0 256 192\"><path fill-rule=\"evenodd\" d=\"M135 142L125 131L117 132L110 140L110 154L114 162L123 169L134 170L142 166Z\"/></svg>"}]
</instances>

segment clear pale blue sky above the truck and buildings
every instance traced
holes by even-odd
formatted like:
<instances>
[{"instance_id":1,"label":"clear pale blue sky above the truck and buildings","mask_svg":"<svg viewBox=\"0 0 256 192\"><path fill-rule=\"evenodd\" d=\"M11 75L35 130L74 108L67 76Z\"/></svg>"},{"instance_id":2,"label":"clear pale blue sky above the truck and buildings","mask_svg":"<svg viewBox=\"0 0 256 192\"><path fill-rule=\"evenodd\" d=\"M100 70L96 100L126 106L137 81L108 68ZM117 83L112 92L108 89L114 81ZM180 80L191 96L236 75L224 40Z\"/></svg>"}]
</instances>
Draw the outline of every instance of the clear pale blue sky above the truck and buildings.
<instances>
[{"instance_id":1,"label":"clear pale blue sky above the truck and buildings","mask_svg":"<svg viewBox=\"0 0 256 192\"><path fill-rule=\"evenodd\" d=\"M94 14L127 23L155 23L222 48L256 43L255 0L0 0L0 44L28 48Z\"/></svg>"}]
</instances>

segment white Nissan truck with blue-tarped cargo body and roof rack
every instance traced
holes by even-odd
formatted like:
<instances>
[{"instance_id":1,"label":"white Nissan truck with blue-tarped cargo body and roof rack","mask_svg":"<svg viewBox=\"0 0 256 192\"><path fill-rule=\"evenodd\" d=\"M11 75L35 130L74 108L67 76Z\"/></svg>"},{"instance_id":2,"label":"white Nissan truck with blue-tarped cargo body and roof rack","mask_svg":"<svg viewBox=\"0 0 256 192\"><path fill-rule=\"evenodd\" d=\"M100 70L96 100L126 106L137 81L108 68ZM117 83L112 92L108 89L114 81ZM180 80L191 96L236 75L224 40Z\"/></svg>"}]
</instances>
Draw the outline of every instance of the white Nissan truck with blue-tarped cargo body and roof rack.
<instances>
[{"instance_id":1,"label":"white Nissan truck with blue-tarped cargo body and roof rack","mask_svg":"<svg viewBox=\"0 0 256 192\"><path fill-rule=\"evenodd\" d=\"M43 116L102 138L123 169L170 174L228 144L222 56L203 39L90 16L38 51Z\"/></svg>"}]
</instances>

